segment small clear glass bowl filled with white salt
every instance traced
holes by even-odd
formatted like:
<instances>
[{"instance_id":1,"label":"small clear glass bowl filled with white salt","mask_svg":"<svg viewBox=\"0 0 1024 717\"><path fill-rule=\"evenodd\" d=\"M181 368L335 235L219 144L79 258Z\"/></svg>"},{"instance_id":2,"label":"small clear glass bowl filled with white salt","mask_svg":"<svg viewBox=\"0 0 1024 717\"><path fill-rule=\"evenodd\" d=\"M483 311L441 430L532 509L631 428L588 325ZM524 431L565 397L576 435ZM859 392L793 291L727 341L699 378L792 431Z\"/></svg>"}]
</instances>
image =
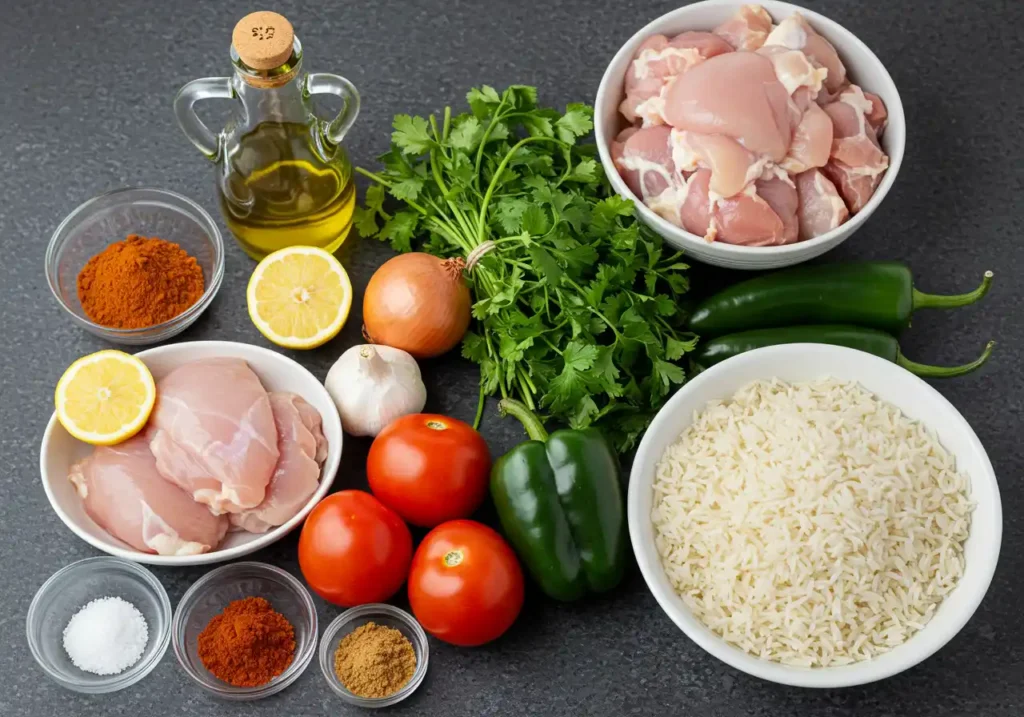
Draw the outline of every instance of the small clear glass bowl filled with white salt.
<instances>
[{"instance_id":1,"label":"small clear glass bowl filled with white salt","mask_svg":"<svg viewBox=\"0 0 1024 717\"><path fill-rule=\"evenodd\" d=\"M43 583L26 620L43 672L78 692L115 692L160 663L171 601L150 571L116 557L73 562Z\"/></svg>"}]
</instances>

